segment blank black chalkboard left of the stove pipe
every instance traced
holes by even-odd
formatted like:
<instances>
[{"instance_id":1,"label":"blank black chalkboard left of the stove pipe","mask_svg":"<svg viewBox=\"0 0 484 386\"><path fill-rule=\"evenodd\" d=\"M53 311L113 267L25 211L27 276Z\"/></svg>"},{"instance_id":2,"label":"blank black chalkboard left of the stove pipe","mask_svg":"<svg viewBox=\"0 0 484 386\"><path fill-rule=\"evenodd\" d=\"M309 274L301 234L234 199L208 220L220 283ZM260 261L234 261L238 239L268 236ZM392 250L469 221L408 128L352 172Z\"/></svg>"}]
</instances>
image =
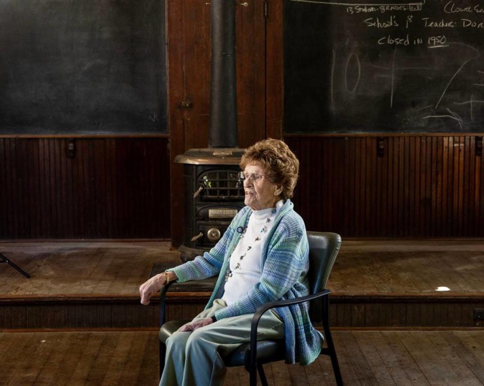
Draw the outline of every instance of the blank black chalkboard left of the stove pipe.
<instances>
[{"instance_id":1,"label":"blank black chalkboard left of the stove pipe","mask_svg":"<svg viewBox=\"0 0 484 386\"><path fill-rule=\"evenodd\" d=\"M2 0L0 134L166 133L164 1Z\"/></svg>"}]
</instances>

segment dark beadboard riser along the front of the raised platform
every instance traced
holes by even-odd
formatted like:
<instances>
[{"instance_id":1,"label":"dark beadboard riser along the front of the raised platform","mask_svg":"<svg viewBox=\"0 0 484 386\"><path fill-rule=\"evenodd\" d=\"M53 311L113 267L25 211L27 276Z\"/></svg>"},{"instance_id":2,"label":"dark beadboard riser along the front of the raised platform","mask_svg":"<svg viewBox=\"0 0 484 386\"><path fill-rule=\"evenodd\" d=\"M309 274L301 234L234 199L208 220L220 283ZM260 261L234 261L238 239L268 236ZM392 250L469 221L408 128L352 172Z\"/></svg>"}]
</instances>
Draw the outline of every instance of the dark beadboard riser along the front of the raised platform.
<instances>
[{"instance_id":1,"label":"dark beadboard riser along the front of the raised platform","mask_svg":"<svg viewBox=\"0 0 484 386\"><path fill-rule=\"evenodd\" d=\"M191 319L208 297L167 298L166 320ZM482 327L473 309L482 297L386 297L331 295L330 325L342 328ZM156 328L159 303L139 298L23 299L0 301L0 330L61 328ZM317 325L321 326L321 325Z\"/></svg>"}]
</instances>

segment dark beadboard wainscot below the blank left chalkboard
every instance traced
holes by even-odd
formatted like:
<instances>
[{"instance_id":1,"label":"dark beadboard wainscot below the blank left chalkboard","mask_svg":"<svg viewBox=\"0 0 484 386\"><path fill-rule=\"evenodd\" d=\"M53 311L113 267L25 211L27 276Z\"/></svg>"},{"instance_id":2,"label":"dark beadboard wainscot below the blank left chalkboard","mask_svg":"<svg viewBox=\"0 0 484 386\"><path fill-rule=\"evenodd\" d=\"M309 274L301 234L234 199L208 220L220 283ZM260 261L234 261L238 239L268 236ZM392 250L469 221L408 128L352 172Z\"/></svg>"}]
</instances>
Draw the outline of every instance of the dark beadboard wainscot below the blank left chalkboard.
<instances>
[{"instance_id":1,"label":"dark beadboard wainscot below the blank left chalkboard","mask_svg":"<svg viewBox=\"0 0 484 386\"><path fill-rule=\"evenodd\" d=\"M168 138L0 138L0 239L169 238Z\"/></svg>"}]
</instances>

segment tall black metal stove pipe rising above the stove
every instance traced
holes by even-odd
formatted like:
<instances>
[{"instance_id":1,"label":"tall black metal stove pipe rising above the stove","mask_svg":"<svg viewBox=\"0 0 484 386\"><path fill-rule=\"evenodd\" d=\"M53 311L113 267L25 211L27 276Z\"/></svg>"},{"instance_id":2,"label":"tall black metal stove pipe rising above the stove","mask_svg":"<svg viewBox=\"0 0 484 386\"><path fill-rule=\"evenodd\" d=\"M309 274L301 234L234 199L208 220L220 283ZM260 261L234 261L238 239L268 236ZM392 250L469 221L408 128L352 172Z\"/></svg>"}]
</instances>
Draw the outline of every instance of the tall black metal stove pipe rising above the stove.
<instances>
[{"instance_id":1,"label":"tall black metal stove pipe rising above the stove","mask_svg":"<svg viewBox=\"0 0 484 386\"><path fill-rule=\"evenodd\" d=\"M235 0L211 0L209 147L237 147Z\"/></svg>"}]
</instances>

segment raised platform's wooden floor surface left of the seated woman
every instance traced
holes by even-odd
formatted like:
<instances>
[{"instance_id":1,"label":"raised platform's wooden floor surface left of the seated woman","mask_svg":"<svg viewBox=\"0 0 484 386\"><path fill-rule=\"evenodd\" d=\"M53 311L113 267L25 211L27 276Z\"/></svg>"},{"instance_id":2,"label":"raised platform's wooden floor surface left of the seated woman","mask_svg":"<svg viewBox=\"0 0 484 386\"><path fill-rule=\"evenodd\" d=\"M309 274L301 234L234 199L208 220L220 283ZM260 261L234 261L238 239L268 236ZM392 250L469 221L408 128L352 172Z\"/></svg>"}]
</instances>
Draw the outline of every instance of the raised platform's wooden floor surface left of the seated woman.
<instances>
[{"instance_id":1,"label":"raised platform's wooden floor surface left of the seated woman","mask_svg":"<svg viewBox=\"0 0 484 386\"><path fill-rule=\"evenodd\" d=\"M0 243L0 252L27 271L0 266L0 295L139 295L153 263L179 263L168 242Z\"/></svg>"}]
</instances>

